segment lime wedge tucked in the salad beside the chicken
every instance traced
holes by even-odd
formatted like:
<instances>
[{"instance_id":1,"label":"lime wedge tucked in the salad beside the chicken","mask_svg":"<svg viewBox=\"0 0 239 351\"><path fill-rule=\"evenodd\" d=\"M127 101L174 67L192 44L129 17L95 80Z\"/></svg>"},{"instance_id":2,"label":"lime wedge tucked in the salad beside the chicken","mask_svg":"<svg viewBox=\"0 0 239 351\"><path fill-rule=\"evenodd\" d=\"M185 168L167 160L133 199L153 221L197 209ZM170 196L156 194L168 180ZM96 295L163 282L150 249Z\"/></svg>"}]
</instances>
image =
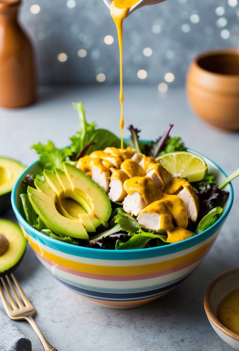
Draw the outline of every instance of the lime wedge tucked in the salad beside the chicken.
<instances>
[{"instance_id":1,"label":"lime wedge tucked in the salad beside the chicken","mask_svg":"<svg viewBox=\"0 0 239 351\"><path fill-rule=\"evenodd\" d=\"M207 174L207 165L202 157L187 151L167 153L156 158L173 177L186 178L189 182L202 180Z\"/></svg>"}]
</instances>

